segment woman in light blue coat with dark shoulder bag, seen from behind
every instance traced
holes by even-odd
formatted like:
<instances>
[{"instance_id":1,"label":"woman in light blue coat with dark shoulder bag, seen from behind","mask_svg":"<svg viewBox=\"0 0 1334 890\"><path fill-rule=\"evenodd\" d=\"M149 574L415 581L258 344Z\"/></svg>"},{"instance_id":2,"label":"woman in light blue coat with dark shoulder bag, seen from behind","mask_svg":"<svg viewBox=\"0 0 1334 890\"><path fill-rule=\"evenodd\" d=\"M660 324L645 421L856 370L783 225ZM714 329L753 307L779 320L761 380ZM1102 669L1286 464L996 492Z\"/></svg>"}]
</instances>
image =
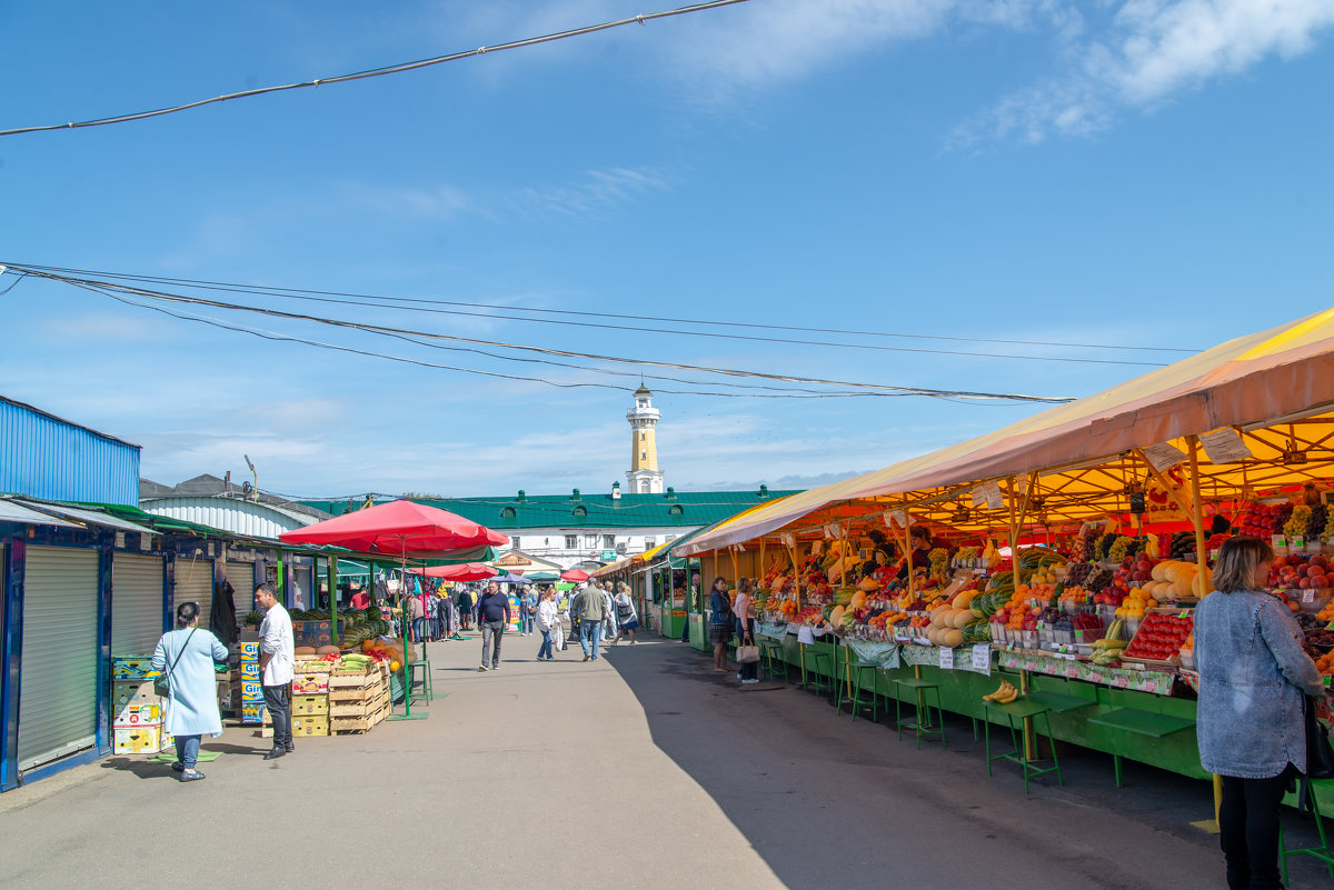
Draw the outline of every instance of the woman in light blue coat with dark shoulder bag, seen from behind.
<instances>
[{"instance_id":1,"label":"woman in light blue coat with dark shoulder bag, seen from behind","mask_svg":"<svg viewBox=\"0 0 1334 890\"><path fill-rule=\"evenodd\" d=\"M212 633L201 630L199 604L176 606L176 630L157 641L153 669L168 674L167 731L176 737L176 762L181 782L204 778L195 769L199 739L204 733L223 734L223 715L217 711L217 679L213 662L227 664L227 648Z\"/></svg>"}]
</instances>

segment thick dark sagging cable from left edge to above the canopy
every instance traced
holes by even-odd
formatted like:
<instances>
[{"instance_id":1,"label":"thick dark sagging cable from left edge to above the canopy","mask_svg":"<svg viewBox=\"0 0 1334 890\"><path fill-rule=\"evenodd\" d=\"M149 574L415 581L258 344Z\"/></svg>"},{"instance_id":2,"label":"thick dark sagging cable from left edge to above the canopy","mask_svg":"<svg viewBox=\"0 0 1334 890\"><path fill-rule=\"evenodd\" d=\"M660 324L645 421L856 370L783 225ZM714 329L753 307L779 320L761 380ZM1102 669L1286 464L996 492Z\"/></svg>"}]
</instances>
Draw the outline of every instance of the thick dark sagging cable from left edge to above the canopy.
<instances>
[{"instance_id":1,"label":"thick dark sagging cable from left edge to above the canopy","mask_svg":"<svg viewBox=\"0 0 1334 890\"><path fill-rule=\"evenodd\" d=\"M168 293L168 292L163 292L163 290L148 290L145 288L128 286L128 285L124 285L124 284L112 284L112 282L105 282L105 281L93 281L93 280L85 280L85 278L75 278L75 277L71 277L71 276L63 276L63 274L57 274L57 273L41 272L41 270L37 270L37 269L33 269L33 268L28 268L28 266L13 265L11 268L13 268L16 270L20 270L20 272L27 272L27 273L29 273L33 277L47 278L47 280L52 280L52 281L61 281L64 284L75 285L75 286L79 286L79 288L83 288L83 289L96 290L96 292L104 293L107 296L109 296L108 292L129 293L129 294L133 294L133 296L137 296L137 297L141 297L141 298L153 300L153 301L173 302L173 304L185 304L185 305L196 305L196 306L209 306L209 308L224 309L224 310L249 312L249 313L257 313L257 314L264 314L264 316L276 317L276 318L285 318L285 320L292 320L292 321L316 322L316 324L329 325L329 326L335 326L335 328L363 330L363 332L371 332L371 333L402 334L402 336L408 336L408 337L423 337L423 338L435 340L435 341L463 342L463 344L472 344L472 345L482 345L482 346L496 346L496 348L502 348L502 349L514 349L514 350L522 350L522 352L528 352L528 353L538 353L538 354L546 354L546 356L556 356L556 357L563 357L563 358L584 358L584 360L592 360L592 361L600 361L600 362L624 364L624 365L644 366L644 368L667 368L667 369L675 369L675 370L702 372L702 373L718 374L718 376L724 376L724 377L742 377L742 378L771 380L771 381L784 382L784 384L815 384L815 385L823 385L823 386L839 386L839 388L844 388L844 389L866 390L867 394L910 394L910 396L930 396L930 397L947 396L947 397L955 397L955 398L982 398L982 400L1025 401L1025 402L1042 402L1042 404L1063 404L1063 402L1071 401L1069 397L1030 396L1030 394L1018 394L1018 393L988 393L988 392L971 392L971 390L942 390L942 389L928 389L928 388L918 388L918 386L896 386L896 385L887 385L887 384L866 384L866 382L839 381L839 380L827 380L827 378L819 378L819 377L798 377L798 376L792 376L792 374L770 374L770 373L763 373L763 372L732 369L732 368L712 368L712 366L704 366L704 365L688 365L688 364L683 364L683 362L667 362L667 361L656 361L656 360L647 360L647 358L626 358L626 357L620 357L620 356L606 356L606 354L598 354L598 353L574 352L574 350L566 350L566 349L554 349L554 348L550 348L550 346L532 346L532 345L524 345L524 344L508 344L508 342L502 342L502 341L494 341L494 340L482 340L482 338L476 338L476 337L459 337L459 336L454 336L454 334L442 334L442 333L432 333L432 332L404 330L402 328L391 328L391 326L386 326L386 325L368 325L368 324L363 324L363 322L346 321L346 320L342 320L342 318L325 318L325 317L321 317L321 316L311 316L311 314L304 314L304 313L281 312L281 310L277 310L277 309L268 309L268 308L263 308L263 306L248 306L248 305L243 305L243 304L231 304L231 302L223 302L223 301L217 301L217 300L204 300L201 297L187 297L187 296ZM140 308L143 308L143 306L140 306ZM277 334L273 334L273 337L277 337ZM344 349L344 350L348 350L348 352L356 352L356 350L350 349L350 348L332 346L332 345L329 345L329 346L331 348L338 348L338 349ZM374 353L371 353L371 354L374 354ZM423 362L416 362L414 360L414 364L423 364ZM464 372L471 372L472 370L472 369L454 368L454 366L450 366L448 369L451 369L451 370L464 370ZM478 373L482 373L482 372L478 372ZM488 376L499 376L499 374L494 374L492 372L486 372L486 373L488 373ZM594 385L594 384L579 384L579 385ZM731 384L728 384L728 385L731 385ZM683 394L686 394L686 393L683 393ZM704 394L704 393L691 393L691 394ZM823 397L823 396L814 396L814 397Z\"/></svg>"}]
</instances>

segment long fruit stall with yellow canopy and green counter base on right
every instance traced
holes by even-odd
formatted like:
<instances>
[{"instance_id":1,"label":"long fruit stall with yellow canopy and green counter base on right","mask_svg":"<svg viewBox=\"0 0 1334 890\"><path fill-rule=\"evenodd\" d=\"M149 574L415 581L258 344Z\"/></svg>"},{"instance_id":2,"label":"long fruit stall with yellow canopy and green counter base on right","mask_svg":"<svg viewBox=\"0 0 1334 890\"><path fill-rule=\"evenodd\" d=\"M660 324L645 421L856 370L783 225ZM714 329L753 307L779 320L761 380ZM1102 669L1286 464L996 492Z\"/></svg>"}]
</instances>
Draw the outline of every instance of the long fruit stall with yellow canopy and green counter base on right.
<instances>
[{"instance_id":1,"label":"long fruit stall with yellow canopy and green counter base on right","mask_svg":"<svg viewBox=\"0 0 1334 890\"><path fill-rule=\"evenodd\" d=\"M1275 596L1326 674L1334 662L1331 370L1334 310L764 505L686 552L711 574L735 545L776 549L754 574L762 633L798 664L810 653L792 629L828 630L832 657L846 650L843 693L868 682L903 698L911 671L946 710L987 721L1002 718L998 694L1059 699L1043 711L1053 737L1113 754L1118 779L1121 758L1198 777L1190 609L1211 590L1226 534L1273 541ZM900 577L888 558L866 558L902 560L910 528L935 538L930 565ZM878 670L847 666L858 649ZM1013 690L992 693L996 674Z\"/></svg>"}]
</instances>

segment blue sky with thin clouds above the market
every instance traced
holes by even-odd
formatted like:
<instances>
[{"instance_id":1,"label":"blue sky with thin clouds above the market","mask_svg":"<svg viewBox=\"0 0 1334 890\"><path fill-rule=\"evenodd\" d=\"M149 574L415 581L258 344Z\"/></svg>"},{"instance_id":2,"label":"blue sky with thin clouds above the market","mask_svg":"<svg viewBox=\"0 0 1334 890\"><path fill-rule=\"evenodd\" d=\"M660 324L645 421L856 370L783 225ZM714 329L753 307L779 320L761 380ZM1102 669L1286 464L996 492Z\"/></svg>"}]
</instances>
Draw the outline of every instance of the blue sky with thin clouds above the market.
<instances>
[{"instance_id":1,"label":"blue sky with thin clouds above the market","mask_svg":"<svg viewBox=\"0 0 1334 890\"><path fill-rule=\"evenodd\" d=\"M666 8L71 12L20 0L0 11L11 35L0 129ZM1327 0L751 0L390 77L0 137L0 261L502 306L1207 348L1334 304L1331 35ZM3 276L0 288L13 281ZM1150 369L252 301L511 344L935 389L1083 396ZM498 373L638 385L191 312ZM263 488L311 497L596 492L628 469L627 392L272 342L33 278L0 296L0 392L141 444L144 476L161 482L243 474L247 453ZM811 338L1123 362L1182 354ZM810 485L1039 410L923 397L660 394L656 404L663 469L679 489Z\"/></svg>"}]
</instances>

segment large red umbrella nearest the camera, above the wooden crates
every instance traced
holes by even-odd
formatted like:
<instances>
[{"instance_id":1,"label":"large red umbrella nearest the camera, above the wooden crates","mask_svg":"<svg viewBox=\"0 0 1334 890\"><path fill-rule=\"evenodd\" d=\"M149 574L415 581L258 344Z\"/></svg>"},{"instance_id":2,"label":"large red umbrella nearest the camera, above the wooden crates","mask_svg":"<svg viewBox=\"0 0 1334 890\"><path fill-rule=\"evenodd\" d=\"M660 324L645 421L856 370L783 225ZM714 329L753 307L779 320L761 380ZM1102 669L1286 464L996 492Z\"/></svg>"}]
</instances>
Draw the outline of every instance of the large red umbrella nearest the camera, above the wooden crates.
<instances>
[{"instance_id":1,"label":"large red umbrella nearest the camera, above the wooden crates","mask_svg":"<svg viewBox=\"0 0 1334 890\"><path fill-rule=\"evenodd\" d=\"M287 544L325 544L362 553L435 557L500 546L510 538L456 513L414 501L390 501L277 536Z\"/></svg>"}]
</instances>

